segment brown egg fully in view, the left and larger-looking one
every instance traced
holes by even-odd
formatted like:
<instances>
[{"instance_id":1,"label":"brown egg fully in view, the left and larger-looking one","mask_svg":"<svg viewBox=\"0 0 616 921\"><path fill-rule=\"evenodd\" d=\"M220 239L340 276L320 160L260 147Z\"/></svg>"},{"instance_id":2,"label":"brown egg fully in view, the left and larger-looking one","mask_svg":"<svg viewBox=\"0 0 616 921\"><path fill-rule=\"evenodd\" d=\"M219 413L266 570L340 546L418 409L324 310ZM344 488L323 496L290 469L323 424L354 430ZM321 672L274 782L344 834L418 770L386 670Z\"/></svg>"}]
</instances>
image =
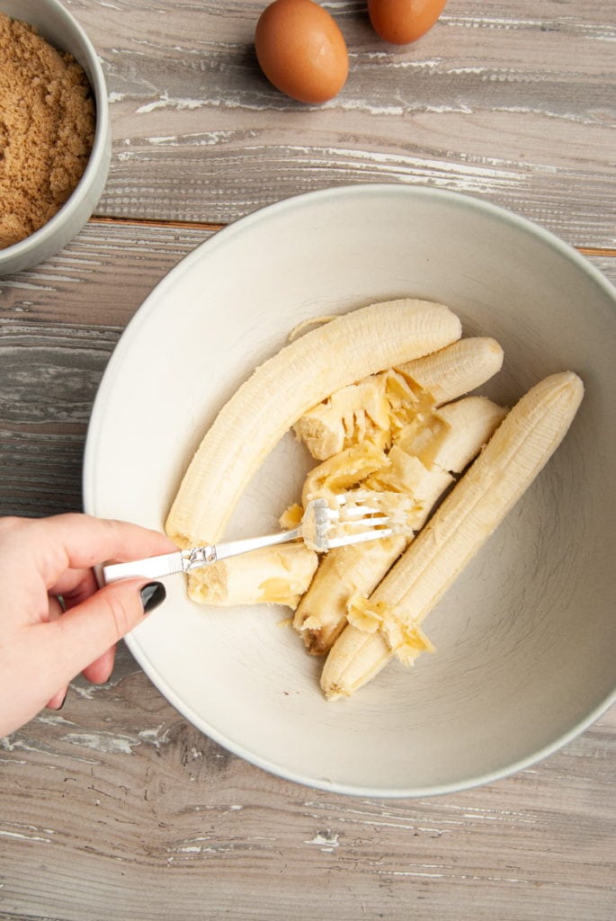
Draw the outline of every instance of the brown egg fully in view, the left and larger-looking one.
<instances>
[{"instance_id":1,"label":"brown egg fully in view, the left and larger-looking one","mask_svg":"<svg viewBox=\"0 0 616 921\"><path fill-rule=\"evenodd\" d=\"M275 0L259 17L254 44L268 80L299 102L326 102L346 82L343 33L312 0Z\"/></svg>"}]
</instances>

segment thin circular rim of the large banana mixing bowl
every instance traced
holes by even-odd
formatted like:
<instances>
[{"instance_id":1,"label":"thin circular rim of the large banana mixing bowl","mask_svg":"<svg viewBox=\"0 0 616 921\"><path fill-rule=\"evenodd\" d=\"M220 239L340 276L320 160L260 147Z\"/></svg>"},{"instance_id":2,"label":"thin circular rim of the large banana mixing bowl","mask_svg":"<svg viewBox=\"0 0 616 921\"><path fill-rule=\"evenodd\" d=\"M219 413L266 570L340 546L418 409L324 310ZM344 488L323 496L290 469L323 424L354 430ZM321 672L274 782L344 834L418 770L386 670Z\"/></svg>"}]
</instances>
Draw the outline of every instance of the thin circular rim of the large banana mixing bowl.
<instances>
[{"instance_id":1,"label":"thin circular rim of the large banana mixing bowl","mask_svg":"<svg viewBox=\"0 0 616 921\"><path fill-rule=\"evenodd\" d=\"M135 311L133 318L126 325L121 338L110 356L110 361L103 373L99 384L95 402L87 426L86 447L84 452L83 464L83 498L84 507L89 514L96 514L95 507L95 476L94 468L96 466L97 442L100 437L101 425L104 422L104 406L107 393L110 391L113 381L116 377L116 369L122 366L125 356L130 353L131 345L134 338L138 336L142 325L147 321L149 314L157 309L160 303L161 293L164 293L169 286L175 285L176 279L187 271L192 269L192 265L202 258L203 248L212 251L216 245L227 244L227 240L238 234L250 230L250 227L256 223L267 221L271 216L276 216L289 209L301 208L306 202L318 200L335 202L340 199L359 196L366 197L369 200L371 196L408 196L409 200L414 199L436 199L439 202L454 204L460 208L466 208L476 213L482 213L492 219L505 221L518 230L538 237L544 244L564 255L565 258L573 260L575 265L585 274L598 284L605 294L613 302L614 311L616 312L616 287L610 284L610 281L599 272L592 263L573 247L571 244L564 242L563 239L556 237L552 231L534 223L527 217L517 215L501 205L485 202L467 192L453 192L445 189L436 189L431 186L403 185L401 183L374 182L365 184L335 186L326 189L319 189L310 192L302 192L297 195L287 196L272 204L264 205L262 208L251 212L249 215L239 217L237 220L228 224L226 227L215 232L213 237L200 243L192 252L183 257L168 274L166 274L152 289L150 294L145 298L142 305ZM559 751L568 742L574 740L585 729L591 726L599 717L604 714L611 705L616 703L616 686L603 701L599 703L592 711L584 717L578 719L575 724L566 732L559 734L556 738L542 745L539 749L531 752L524 758L517 760L513 764L496 768L493 771L485 772L480 775L462 778L459 781L447 784L435 784L424 787L370 787L349 785L339 782L330 781L326 778L312 777L302 775L299 772L286 770L278 764L273 764L267 758L255 755L247 751L241 744L234 740L229 740L223 733L210 727L203 717L200 717L190 705L186 704L179 694L169 686L168 682L163 679L157 672L144 649L141 647L138 637L128 634L124 641L131 651L134 659L139 666L145 671L148 679L155 685L160 694L169 701L182 717L187 719L192 725L199 729L207 738L215 741L228 752L232 752L238 757L253 764L256 767L267 771L269 774L278 776L284 780L291 781L304 787L320 789L330 793L342 794L352 797L369 797L378 799L418 799L432 796L442 796L451 793L458 793L473 787L482 787L492 784L495 781L505 779L519 771L537 764L544 758Z\"/></svg>"}]
</instances>

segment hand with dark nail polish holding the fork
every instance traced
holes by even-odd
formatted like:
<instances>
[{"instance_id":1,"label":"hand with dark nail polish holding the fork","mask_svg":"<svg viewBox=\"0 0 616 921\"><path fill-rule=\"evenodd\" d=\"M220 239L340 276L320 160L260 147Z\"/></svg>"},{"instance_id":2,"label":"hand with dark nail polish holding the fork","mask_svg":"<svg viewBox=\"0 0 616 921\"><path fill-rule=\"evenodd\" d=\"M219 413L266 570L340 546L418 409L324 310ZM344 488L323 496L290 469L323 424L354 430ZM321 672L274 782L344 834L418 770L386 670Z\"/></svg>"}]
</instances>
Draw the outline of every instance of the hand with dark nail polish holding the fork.
<instances>
[{"instance_id":1,"label":"hand with dark nail polish holding the fork","mask_svg":"<svg viewBox=\"0 0 616 921\"><path fill-rule=\"evenodd\" d=\"M98 588L92 566L177 550L163 534L87 515L0 519L0 736L64 704L81 671L106 682L115 644L165 599L160 582Z\"/></svg>"}]
</instances>

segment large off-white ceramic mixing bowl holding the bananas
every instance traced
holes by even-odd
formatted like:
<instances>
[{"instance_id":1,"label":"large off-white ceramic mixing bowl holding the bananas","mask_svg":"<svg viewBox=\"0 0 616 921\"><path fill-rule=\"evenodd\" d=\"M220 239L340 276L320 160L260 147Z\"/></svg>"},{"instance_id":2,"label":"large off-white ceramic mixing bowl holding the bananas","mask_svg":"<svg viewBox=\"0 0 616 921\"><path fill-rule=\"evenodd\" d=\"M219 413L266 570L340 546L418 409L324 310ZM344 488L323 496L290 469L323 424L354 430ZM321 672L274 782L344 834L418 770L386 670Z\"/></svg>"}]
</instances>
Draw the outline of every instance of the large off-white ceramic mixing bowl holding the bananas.
<instances>
[{"instance_id":1,"label":"large off-white ceramic mixing bowl holding the bananas","mask_svg":"<svg viewBox=\"0 0 616 921\"><path fill-rule=\"evenodd\" d=\"M182 577L128 637L162 694L227 749L376 797L508 775L613 699L616 298L603 276L540 227L452 192L364 185L274 204L147 298L100 386L85 462L87 511L162 528L216 412L299 321L409 295L447 303L466 335L503 345L505 367L482 388L495 399L563 369L587 387L562 447L426 620L436 655L412 670L393 662L328 704L320 660L279 624L286 609L203 609ZM230 532L273 529L305 469L285 437Z\"/></svg>"}]
</instances>

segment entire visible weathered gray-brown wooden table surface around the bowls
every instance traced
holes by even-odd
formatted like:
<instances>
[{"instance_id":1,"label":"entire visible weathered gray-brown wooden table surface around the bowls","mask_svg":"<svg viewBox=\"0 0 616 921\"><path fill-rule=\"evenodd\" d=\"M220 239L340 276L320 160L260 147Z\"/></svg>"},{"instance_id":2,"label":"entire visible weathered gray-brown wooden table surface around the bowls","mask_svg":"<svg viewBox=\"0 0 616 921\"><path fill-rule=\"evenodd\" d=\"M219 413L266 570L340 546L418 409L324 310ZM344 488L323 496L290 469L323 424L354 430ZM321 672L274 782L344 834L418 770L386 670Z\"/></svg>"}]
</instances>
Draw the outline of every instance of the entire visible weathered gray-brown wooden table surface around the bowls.
<instances>
[{"instance_id":1,"label":"entire visible weathered gray-brown wooden table surface around the bowls","mask_svg":"<svg viewBox=\"0 0 616 921\"><path fill-rule=\"evenodd\" d=\"M351 71L296 104L264 3L64 0L104 64L113 158L62 252L0 279L0 514L81 508L87 421L126 322L219 227L296 192L470 192L616 281L613 0L449 0L423 40L325 3ZM204 738L125 647L110 682L0 740L0 921L616 917L616 712L532 769L433 799L346 798Z\"/></svg>"}]
</instances>

